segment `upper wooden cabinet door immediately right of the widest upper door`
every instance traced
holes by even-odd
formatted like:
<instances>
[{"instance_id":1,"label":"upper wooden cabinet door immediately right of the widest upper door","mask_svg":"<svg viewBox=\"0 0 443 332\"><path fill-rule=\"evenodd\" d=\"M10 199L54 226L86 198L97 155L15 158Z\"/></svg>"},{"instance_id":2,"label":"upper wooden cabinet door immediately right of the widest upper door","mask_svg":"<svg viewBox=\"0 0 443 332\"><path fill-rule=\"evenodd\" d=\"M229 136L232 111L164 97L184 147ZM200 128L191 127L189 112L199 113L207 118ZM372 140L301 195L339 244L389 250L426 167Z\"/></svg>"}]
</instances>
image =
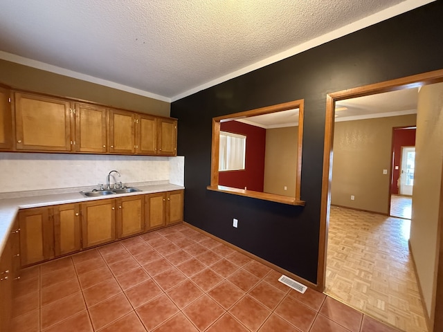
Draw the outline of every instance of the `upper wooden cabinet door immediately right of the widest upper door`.
<instances>
[{"instance_id":1,"label":"upper wooden cabinet door immediately right of the widest upper door","mask_svg":"<svg viewBox=\"0 0 443 332\"><path fill-rule=\"evenodd\" d=\"M75 151L106 152L107 109L75 104Z\"/></svg>"}]
</instances>

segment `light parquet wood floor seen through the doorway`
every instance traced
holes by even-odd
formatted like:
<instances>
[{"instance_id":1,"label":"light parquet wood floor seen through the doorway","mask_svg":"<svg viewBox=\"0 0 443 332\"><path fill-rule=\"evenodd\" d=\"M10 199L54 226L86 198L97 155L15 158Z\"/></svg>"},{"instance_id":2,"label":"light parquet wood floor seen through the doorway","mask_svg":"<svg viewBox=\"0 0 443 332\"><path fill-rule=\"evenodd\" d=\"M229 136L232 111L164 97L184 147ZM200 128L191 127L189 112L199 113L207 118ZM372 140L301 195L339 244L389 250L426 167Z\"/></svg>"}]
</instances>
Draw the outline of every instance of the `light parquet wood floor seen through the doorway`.
<instances>
[{"instance_id":1,"label":"light parquet wood floor seen through the doorway","mask_svg":"<svg viewBox=\"0 0 443 332\"><path fill-rule=\"evenodd\" d=\"M325 294L406 332L427 332L410 221L331 207Z\"/></svg>"}]
</instances>

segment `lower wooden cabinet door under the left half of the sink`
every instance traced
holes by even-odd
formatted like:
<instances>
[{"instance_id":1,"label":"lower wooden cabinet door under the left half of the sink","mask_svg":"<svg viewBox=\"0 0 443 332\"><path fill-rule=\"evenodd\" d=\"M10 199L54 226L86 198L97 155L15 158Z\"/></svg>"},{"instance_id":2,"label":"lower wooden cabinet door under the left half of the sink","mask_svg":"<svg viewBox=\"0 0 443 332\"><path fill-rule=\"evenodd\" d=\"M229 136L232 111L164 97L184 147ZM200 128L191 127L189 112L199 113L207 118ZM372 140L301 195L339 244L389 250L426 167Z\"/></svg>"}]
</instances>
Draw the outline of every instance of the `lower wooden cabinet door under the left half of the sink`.
<instances>
[{"instance_id":1,"label":"lower wooden cabinet door under the left half of the sink","mask_svg":"<svg viewBox=\"0 0 443 332\"><path fill-rule=\"evenodd\" d=\"M114 199L82 203L83 248L98 246L116 239L114 204Z\"/></svg>"}]
</instances>

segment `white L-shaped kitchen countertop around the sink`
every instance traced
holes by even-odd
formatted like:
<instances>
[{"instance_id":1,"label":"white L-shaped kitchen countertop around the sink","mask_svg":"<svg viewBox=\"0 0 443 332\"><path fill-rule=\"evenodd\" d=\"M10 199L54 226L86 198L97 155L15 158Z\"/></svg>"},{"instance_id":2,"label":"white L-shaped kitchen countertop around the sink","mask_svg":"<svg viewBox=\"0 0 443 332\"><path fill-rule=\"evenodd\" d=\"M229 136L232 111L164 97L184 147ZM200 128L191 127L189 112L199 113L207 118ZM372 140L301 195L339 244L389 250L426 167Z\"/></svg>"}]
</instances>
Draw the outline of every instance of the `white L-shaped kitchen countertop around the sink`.
<instances>
[{"instance_id":1,"label":"white L-shaped kitchen countertop around the sink","mask_svg":"<svg viewBox=\"0 0 443 332\"><path fill-rule=\"evenodd\" d=\"M129 184L127 184L129 186ZM67 203L82 203L87 201L97 201L99 199L116 199L122 196L134 196L143 194L153 194L156 192L170 192L172 190L182 190L185 187L181 185L172 185L170 183L131 183L131 187L136 187L141 192L131 192L127 194L112 194L101 197L85 197L80 191L91 190L88 188L68 188L65 190L44 190L40 194L31 192L10 193L14 198L0 199L0 253L6 245L12 225L19 209L39 208L48 205L59 205ZM97 186L95 186L97 187ZM32 196L31 196L32 195ZM2 194L1 196L7 196Z\"/></svg>"}]
</instances>

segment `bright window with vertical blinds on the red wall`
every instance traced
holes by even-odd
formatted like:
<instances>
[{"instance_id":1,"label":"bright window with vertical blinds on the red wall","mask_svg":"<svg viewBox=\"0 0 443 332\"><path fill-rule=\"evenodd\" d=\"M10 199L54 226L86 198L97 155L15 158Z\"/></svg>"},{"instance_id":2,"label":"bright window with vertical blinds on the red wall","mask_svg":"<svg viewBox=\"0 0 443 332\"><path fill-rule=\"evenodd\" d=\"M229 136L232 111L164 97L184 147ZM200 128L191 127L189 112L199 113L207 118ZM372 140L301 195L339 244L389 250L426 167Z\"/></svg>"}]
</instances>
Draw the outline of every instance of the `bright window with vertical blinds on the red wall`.
<instances>
[{"instance_id":1,"label":"bright window with vertical blinds on the red wall","mask_svg":"<svg viewBox=\"0 0 443 332\"><path fill-rule=\"evenodd\" d=\"M246 136L220 131L219 171L244 169Z\"/></svg>"}]
</instances>

